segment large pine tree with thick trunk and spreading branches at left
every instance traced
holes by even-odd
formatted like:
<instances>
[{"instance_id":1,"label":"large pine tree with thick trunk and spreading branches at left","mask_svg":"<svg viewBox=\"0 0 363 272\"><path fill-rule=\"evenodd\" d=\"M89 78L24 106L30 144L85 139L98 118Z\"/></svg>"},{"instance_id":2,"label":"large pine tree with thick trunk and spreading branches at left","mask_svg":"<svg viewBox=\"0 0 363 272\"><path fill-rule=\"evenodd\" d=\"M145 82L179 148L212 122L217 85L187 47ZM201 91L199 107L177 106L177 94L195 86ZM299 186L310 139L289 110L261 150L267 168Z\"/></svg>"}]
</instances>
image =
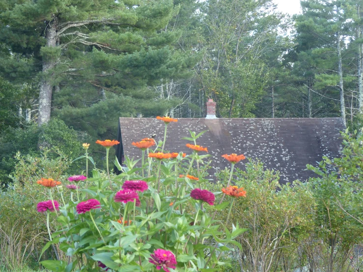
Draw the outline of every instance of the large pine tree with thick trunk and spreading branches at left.
<instances>
[{"instance_id":1,"label":"large pine tree with thick trunk and spreading branches at left","mask_svg":"<svg viewBox=\"0 0 363 272\"><path fill-rule=\"evenodd\" d=\"M10 74L12 67L13 78L27 71L38 82L38 125L56 109L77 129L91 131L89 122L97 119L102 126L95 134L102 135L110 132L111 115L113 122L118 116L155 115L166 103L158 105L147 85L177 78L194 64L171 46L177 32L160 31L178 12L172 0L5 0L2 5L0 42L12 55L21 54L25 68L17 69L5 55L10 65L0 69Z\"/></svg>"}]
</instances>

